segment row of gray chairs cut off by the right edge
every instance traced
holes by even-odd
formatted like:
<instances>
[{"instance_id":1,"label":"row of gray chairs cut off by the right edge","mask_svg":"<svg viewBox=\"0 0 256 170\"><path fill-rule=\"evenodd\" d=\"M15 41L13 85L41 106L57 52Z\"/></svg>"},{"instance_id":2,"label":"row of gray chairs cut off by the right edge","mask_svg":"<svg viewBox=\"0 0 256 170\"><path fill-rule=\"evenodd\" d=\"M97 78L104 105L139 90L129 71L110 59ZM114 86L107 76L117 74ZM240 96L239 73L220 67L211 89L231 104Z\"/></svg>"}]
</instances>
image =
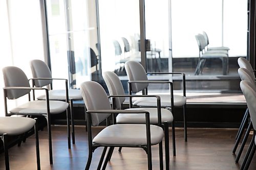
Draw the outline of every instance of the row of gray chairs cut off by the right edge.
<instances>
[{"instance_id":1,"label":"row of gray chairs cut off by the right edge","mask_svg":"<svg viewBox=\"0 0 256 170\"><path fill-rule=\"evenodd\" d=\"M252 69L252 66L250 65L249 61L245 58L239 58L238 64L240 68L238 69L238 74L241 78L240 87L243 91L243 94L246 99L247 103L247 109L244 114L241 126L239 128L239 131L236 136L236 143L234 144L232 153L235 154L238 148L238 145L240 143L240 140L242 138L243 132L247 127L247 130L245 132L243 141L241 143L240 149L238 154L236 155L236 163L239 162L239 159L242 155L243 149L245 147L246 141L248 139L248 136L250 134L251 129L253 129L253 136L250 142L250 145L248 147L248 150L245 154L243 163L241 165L241 169L248 169L250 162L252 160L252 157L255 152L255 128L256 128L256 107L255 107L255 101L256 101L256 84L255 84L255 76L254 76L254 70Z\"/></svg>"}]
</instances>

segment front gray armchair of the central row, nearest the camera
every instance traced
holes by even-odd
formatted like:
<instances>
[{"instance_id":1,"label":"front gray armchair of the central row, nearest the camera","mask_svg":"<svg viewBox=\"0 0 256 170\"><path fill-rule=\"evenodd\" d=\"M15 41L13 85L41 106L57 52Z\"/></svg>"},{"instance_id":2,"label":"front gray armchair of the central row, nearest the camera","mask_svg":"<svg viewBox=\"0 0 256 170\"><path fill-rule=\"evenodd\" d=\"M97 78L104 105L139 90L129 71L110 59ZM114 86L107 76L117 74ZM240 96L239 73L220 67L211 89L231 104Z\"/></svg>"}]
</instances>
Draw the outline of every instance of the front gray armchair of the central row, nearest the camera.
<instances>
[{"instance_id":1,"label":"front gray armchair of the central row, nearest the camera","mask_svg":"<svg viewBox=\"0 0 256 170\"><path fill-rule=\"evenodd\" d=\"M97 82L83 82L81 91L84 103L88 109L88 144L89 157L86 165L88 170L91 165L93 151L98 147L104 147L98 168L101 168L107 147L109 153L114 147L135 147L143 148L147 152L148 169L152 169L151 145L162 144L163 129L156 125L150 125L150 114L143 110L112 110L109 98L103 87ZM98 126L111 114L144 114L146 124L114 124L105 127L94 138L92 137L92 126ZM161 147L160 147L161 148ZM162 150L159 148L160 157ZM105 158L109 160L110 154ZM160 169L163 169L162 158L160 159ZM104 165L102 169L105 169Z\"/></svg>"}]
</instances>

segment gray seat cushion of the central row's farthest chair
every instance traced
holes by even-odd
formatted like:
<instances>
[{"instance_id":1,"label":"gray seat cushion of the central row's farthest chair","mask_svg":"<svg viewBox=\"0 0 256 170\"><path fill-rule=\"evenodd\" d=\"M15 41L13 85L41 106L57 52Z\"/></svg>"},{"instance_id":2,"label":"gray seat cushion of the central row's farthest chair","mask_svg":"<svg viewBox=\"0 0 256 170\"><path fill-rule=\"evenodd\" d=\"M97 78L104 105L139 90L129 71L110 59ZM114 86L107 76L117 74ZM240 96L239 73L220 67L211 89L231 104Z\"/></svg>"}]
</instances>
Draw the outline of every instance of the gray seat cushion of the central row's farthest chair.
<instances>
[{"instance_id":1,"label":"gray seat cushion of the central row's farthest chair","mask_svg":"<svg viewBox=\"0 0 256 170\"><path fill-rule=\"evenodd\" d=\"M161 107L170 107L170 95L158 94L161 98ZM183 95L174 95L174 106L183 106L186 104L186 97ZM140 107L157 107L156 98L140 98L133 103Z\"/></svg>"}]
</instances>

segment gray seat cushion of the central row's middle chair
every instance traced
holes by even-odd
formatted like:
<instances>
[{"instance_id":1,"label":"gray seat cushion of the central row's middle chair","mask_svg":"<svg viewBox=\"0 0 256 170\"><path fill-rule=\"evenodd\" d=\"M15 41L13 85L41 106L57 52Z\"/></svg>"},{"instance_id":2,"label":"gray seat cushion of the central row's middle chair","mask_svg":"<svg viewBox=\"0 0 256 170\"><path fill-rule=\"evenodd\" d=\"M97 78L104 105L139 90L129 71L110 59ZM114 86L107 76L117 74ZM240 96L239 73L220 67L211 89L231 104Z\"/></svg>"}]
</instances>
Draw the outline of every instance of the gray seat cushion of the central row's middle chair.
<instances>
[{"instance_id":1,"label":"gray seat cushion of the central row's middle chair","mask_svg":"<svg viewBox=\"0 0 256 170\"><path fill-rule=\"evenodd\" d=\"M150 112L150 123L157 124L158 123L158 114L157 108L130 108L125 110L145 110ZM168 123L173 122L173 114L167 109L161 109L161 118L162 123L165 121ZM118 114L116 117L116 122L118 124L145 124L145 114Z\"/></svg>"}]
</instances>

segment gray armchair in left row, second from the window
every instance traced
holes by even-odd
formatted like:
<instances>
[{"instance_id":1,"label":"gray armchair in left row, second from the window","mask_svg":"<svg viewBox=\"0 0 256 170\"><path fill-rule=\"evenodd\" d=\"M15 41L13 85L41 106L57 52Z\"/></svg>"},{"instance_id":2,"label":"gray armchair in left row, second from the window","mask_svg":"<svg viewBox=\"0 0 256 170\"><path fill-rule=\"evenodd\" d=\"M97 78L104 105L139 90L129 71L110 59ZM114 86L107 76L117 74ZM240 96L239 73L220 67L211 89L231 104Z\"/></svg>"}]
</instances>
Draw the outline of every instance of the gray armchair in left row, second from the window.
<instances>
[{"instance_id":1,"label":"gray armchair in left row, second from the window","mask_svg":"<svg viewBox=\"0 0 256 170\"><path fill-rule=\"evenodd\" d=\"M49 155L50 164L53 163L52 158L52 135L51 135L51 114L58 114L67 111L69 104L62 101L50 101L49 92L47 88L41 87L30 87L29 80L24 71L15 66L8 66L3 68L4 74L4 104L5 104L5 115L33 115L33 116L44 116L47 119L48 134L49 134ZM31 90L44 90L46 92L46 100L30 101ZM29 95L29 101L22 105L19 105L8 111L7 98L8 100L16 100L26 94ZM67 117L67 122L69 119ZM68 129L70 127L68 126ZM69 132L69 130L68 130ZM70 135L70 134L69 134ZM70 140L69 140L70 142Z\"/></svg>"}]
</instances>

